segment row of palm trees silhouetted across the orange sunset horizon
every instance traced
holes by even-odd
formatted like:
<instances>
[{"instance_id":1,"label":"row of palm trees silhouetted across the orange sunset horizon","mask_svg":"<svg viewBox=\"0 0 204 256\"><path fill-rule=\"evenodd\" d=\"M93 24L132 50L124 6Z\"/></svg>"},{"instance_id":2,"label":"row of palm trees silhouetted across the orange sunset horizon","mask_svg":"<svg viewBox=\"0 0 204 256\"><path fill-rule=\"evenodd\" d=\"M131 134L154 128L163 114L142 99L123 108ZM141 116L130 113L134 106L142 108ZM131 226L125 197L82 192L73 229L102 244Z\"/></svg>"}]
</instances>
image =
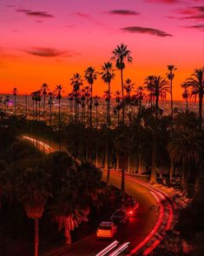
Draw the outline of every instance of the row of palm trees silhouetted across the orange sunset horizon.
<instances>
[{"instance_id":1,"label":"row of palm trees silhouetted across the orange sunset horizon","mask_svg":"<svg viewBox=\"0 0 204 256\"><path fill-rule=\"evenodd\" d=\"M112 52L113 57L111 60L115 61L115 66L118 70L121 71L121 81L122 81L122 97L120 96L120 91L116 91L116 106L115 112L117 113L118 117L118 125L125 125L125 106L128 105L128 118L129 124L131 120L131 105L136 104L138 108L137 115L141 117L141 108L144 101L148 101L150 104L150 109L154 113L154 125L151 127L152 131L152 141L153 141L153 153L152 153L152 172L151 172L151 183L155 183L155 172L156 172L156 152L157 152L157 127L158 127L158 118L160 115L160 100L163 100L167 97L167 93L170 93L171 96L171 118L174 115L174 102L173 102L173 79L174 79L174 71L176 71L176 67L171 64L168 65L168 73L167 77L163 78L161 76L148 76L145 79L144 86L139 86L136 91L135 95L132 95L131 92L133 91L134 84L132 83L131 79L126 79L125 83L123 82L123 71L125 69L125 64L132 62L131 52L128 50L127 45L121 44L117 45L115 51ZM106 125L108 127L108 131L110 129L110 98L111 98L111 82L115 77L115 69L111 62L107 62L102 65L102 70L100 72L96 72L93 67L89 67L85 71L84 78L88 82L89 87L85 86L82 88L83 79L79 73L75 73L73 77L70 79L70 84L73 86L73 91L69 94L70 101L74 102L73 112L75 113L76 122L79 122L79 106L82 105L82 109L86 106L88 108L88 127L92 129L92 108L93 108L93 84L97 75L102 76L102 80L105 84L108 85L108 90L105 92L106 95L106 102L107 102L107 118L106 118ZM170 83L169 83L170 82ZM184 88L183 98L186 100L187 110L188 110L188 98L193 98L196 100L199 98L199 128L201 131L202 128L202 102L203 102L203 95L204 95L204 85L203 85L203 69L195 70L192 77L189 77L181 86ZM124 89L127 92L125 97ZM40 101L41 101L41 94L43 93L43 112L45 113L45 98L47 95L48 86L47 84L43 84L41 90L36 91L33 93L35 98L33 98L33 104L35 103L36 106L36 119L37 119L37 112L40 110ZM62 98L62 90L63 87L61 85L56 86L56 90L49 94L49 110L51 110L51 104L53 98L56 96L58 100L58 131L59 131L59 149L61 148L61 98ZM72 99L71 99L72 98ZM87 99L87 100L85 100ZM38 105L38 111L37 111ZM98 106L98 102L96 104ZM33 107L34 109L34 107ZM120 110L122 110L122 120L120 122ZM71 113L72 114L72 113ZM34 116L34 114L33 114ZM84 115L83 115L84 116ZM38 119L40 119L40 114L38 115ZM51 111L50 111L50 121L51 124ZM106 155L109 162L109 132L107 132L106 139L107 139L107 150ZM122 174L124 175L124 170L122 170ZM108 181L109 181L109 163L108 163Z\"/></svg>"}]
</instances>

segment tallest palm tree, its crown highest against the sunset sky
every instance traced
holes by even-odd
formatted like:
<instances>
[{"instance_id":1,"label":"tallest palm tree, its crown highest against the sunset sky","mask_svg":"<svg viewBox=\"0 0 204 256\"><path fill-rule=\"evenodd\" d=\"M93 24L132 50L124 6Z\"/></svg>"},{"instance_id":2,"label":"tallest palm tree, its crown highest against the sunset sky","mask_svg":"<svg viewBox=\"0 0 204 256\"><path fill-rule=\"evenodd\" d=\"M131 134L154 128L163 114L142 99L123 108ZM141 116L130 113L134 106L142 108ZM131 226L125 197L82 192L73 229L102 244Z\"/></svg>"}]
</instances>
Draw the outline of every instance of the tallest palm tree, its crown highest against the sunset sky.
<instances>
[{"instance_id":1,"label":"tallest palm tree, its crown highest against the sunset sky","mask_svg":"<svg viewBox=\"0 0 204 256\"><path fill-rule=\"evenodd\" d=\"M125 123L125 109L124 109L124 84L123 84L123 70L125 69L125 61L132 63L133 58L130 56L131 51L128 50L128 46L125 44L117 45L115 50L112 52L115 60L116 68L121 71L121 82L122 82L122 124Z\"/></svg>"}]
</instances>

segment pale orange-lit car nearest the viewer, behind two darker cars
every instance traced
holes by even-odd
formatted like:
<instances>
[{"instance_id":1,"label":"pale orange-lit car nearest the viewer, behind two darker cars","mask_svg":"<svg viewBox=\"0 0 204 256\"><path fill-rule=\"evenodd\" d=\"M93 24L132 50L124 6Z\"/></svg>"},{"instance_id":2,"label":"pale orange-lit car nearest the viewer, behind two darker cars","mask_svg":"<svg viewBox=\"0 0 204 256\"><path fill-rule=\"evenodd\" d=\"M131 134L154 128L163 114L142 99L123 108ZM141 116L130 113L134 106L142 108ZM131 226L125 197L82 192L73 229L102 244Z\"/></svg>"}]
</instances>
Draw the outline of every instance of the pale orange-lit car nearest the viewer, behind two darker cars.
<instances>
[{"instance_id":1,"label":"pale orange-lit car nearest the viewer, behind two darker cars","mask_svg":"<svg viewBox=\"0 0 204 256\"><path fill-rule=\"evenodd\" d=\"M117 226L110 221L102 221L100 226L97 228L97 238L113 238L117 232Z\"/></svg>"}]
</instances>

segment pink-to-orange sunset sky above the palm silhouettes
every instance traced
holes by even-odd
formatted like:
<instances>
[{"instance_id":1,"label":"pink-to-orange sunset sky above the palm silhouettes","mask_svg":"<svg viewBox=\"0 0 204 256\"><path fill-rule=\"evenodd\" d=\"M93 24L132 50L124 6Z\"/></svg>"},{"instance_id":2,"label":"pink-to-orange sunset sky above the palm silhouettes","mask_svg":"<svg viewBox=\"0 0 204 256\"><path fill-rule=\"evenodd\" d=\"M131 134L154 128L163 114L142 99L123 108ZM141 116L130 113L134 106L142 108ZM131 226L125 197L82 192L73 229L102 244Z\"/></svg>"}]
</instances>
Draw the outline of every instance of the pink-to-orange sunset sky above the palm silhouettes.
<instances>
[{"instance_id":1,"label":"pink-to-orange sunset sky above the palm silhouettes","mask_svg":"<svg viewBox=\"0 0 204 256\"><path fill-rule=\"evenodd\" d=\"M100 71L117 44L127 44L133 64L125 78L143 84L148 75L165 76L167 64L181 83L204 63L202 0L0 0L0 93L30 93L41 84L71 91L73 73L92 65ZM120 90L116 71L112 91ZM94 94L106 85L98 78Z\"/></svg>"}]
</instances>

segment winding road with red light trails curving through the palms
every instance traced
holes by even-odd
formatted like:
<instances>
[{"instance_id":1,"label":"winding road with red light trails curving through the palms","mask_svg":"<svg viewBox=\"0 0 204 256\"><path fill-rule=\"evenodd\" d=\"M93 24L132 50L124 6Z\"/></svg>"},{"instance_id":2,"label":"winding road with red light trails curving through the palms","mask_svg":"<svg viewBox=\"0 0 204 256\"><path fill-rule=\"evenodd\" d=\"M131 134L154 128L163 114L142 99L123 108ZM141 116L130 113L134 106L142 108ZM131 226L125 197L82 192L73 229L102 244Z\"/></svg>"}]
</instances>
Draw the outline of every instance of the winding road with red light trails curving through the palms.
<instances>
[{"instance_id":1,"label":"winding road with red light trails curving through the palms","mask_svg":"<svg viewBox=\"0 0 204 256\"><path fill-rule=\"evenodd\" d=\"M23 138L35 142L35 138ZM38 144L41 145L42 142L38 141ZM103 172L103 179L106 180L106 172ZM120 188L121 173L112 170L109 182L111 185ZM172 202L164 193L127 174L125 191L139 202L139 212L135 219L130 219L127 226L119 226L115 239L120 244L129 241L128 249L131 255L148 255L159 245L171 226L174 216ZM56 247L42 255L94 256L113 240L97 239L93 234L72 246Z\"/></svg>"}]
</instances>

